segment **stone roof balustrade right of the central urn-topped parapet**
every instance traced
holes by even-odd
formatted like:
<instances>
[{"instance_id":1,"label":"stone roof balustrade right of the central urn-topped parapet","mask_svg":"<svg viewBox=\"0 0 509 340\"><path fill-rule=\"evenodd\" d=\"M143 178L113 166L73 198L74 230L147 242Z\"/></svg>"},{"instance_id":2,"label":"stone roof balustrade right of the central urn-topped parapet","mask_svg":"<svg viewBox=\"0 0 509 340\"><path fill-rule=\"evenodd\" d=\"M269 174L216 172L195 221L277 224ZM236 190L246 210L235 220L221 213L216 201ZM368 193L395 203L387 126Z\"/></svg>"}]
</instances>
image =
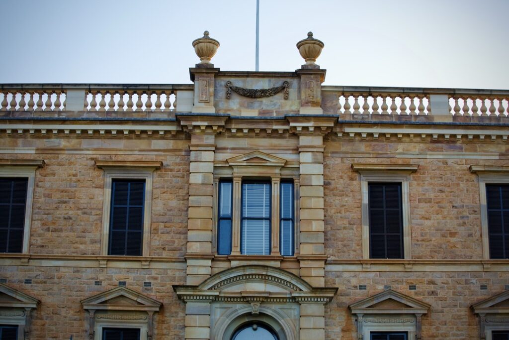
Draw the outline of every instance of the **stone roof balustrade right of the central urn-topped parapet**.
<instances>
[{"instance_id":1,"label":"stone roof balustrade right of the central urn-topped parapet","mask_svg":"<svg viewBox=\"0 0 509 340\"><path fill-rule=\"evenodd\" d=\"M389 87L322 87L327 114L509 115L509 91Z\"/></svg>"}]
</instances>

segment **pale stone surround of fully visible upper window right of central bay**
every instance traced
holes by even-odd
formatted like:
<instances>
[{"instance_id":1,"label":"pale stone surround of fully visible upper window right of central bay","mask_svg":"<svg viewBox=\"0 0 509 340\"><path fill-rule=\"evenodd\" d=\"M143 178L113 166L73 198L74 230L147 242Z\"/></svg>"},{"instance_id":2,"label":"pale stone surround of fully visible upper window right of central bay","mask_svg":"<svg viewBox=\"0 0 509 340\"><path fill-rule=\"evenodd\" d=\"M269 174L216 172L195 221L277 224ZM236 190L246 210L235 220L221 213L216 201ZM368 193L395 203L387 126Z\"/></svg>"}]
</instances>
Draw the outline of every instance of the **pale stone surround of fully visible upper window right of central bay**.
<instances>
[{"instance_id":1,"label":"pale stone surround of fully visible upper window right of central bay","mask_svg":"<svg viewBox=\"0 0 509 340\"><path fill-rule=\"evenodd\" d=\"M410 220L410 175L418 165L397 164L352 164L353 171L360 174L362 210L362 258L370 259L370 215L369 182L395 182L401 184L401 204L403 220L403 258L412 258L411 220Z\"/></svg>"}]
</instances>

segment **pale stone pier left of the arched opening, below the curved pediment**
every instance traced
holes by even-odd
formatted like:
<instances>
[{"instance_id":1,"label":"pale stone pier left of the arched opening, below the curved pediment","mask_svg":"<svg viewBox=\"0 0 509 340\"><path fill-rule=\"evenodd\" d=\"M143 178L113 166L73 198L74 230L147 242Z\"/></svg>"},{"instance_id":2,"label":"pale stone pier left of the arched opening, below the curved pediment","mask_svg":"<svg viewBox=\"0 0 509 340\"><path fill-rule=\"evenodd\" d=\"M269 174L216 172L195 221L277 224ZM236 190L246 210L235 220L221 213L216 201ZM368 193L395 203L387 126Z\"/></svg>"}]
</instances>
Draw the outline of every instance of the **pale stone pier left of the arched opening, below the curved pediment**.
<instances>
[{"instance_id":1,"label":"pale stone pier left of the arched opening, below the curved pediment","mask_svg":"<svg viewBox=\"0 0 509 340\"><path fill-rule=\"evenodd\" d=\"M210 302L186 301L186 340L210 338Z\"/></svg>"}]
</instances>

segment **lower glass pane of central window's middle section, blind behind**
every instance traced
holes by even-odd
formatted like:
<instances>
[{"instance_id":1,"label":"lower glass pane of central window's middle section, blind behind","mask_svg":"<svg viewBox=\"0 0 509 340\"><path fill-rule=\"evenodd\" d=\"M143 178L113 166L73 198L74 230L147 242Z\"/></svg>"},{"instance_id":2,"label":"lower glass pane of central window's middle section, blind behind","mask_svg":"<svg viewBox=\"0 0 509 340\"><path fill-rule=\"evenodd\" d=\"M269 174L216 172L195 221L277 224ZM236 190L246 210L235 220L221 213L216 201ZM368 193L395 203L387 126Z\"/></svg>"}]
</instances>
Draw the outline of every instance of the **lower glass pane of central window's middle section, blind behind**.
<instances>
[{"instance_id":1,"label":"lower glass pane of central window's middle section, blind behind","mask_svg":"<svg viewBox=\"0 0 509 340\"><path fill-rule=\"evenodd\" d=\"M270 222L268 220L242 221L242 254L270 254Z\"/></svg>"}]
</instances>

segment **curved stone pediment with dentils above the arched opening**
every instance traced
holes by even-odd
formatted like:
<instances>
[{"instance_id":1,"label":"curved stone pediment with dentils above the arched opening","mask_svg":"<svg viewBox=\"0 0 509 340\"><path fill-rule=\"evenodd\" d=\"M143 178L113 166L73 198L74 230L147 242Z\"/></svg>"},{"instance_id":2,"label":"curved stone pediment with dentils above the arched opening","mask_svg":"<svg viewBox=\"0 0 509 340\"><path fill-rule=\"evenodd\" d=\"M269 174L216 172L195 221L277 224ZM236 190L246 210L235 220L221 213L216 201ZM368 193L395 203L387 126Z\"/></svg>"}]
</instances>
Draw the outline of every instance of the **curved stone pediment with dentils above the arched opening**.
<instances>
[{"instance_id":1,"label":"curved stone pediment with dentils above the arched opening","mask_svg":"<svg viewBox=\"0 0 509 340\"><path fill-rule=\"evenodd\" d=\"M174 285L183 300L320 301L328 302L336 288L316 288L285 270L268 266L239 266L212 275L200 285Z\"/></svg>"}]
</instances>

